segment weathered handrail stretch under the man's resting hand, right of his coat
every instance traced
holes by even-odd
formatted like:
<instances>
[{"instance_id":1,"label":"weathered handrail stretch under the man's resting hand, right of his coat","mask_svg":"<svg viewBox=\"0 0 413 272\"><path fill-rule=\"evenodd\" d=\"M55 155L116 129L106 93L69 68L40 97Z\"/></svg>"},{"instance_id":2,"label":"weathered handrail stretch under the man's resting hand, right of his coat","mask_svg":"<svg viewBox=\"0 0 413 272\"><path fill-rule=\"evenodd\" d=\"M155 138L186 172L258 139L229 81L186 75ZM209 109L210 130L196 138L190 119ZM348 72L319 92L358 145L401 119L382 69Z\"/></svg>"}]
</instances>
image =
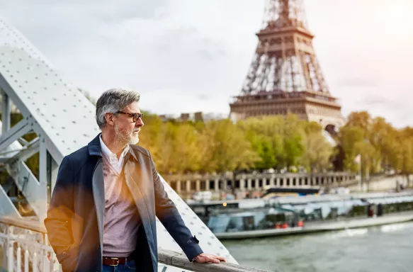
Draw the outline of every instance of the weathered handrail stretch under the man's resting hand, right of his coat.
<instances>
[{"instance_id":1,"label":"weathered handrail stretch under the man's resting hand, right of his coat","mask_svg":"<svg viewBox=\"0 0 413 272\"><path fill-rule=\"evenodd\" d=\"M158 259L159 263L197 272L267 272L233 263L191 263L184 254L165 249L158 249Z\"/></svg>"}]
</instances>

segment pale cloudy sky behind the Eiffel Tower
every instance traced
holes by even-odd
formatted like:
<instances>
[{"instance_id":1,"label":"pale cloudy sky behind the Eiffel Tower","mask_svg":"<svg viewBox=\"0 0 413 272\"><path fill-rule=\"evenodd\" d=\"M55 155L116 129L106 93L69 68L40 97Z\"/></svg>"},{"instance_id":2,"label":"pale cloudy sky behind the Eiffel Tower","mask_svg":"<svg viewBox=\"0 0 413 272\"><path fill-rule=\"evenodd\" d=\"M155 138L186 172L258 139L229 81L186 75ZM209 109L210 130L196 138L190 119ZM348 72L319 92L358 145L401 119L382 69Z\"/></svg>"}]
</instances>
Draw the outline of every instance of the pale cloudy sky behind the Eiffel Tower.
<instances>
[{"instance_id":1,"label":"pale cloudy sky behind the Eiffel Tower","mask_svg":"<svg viewBox=\"0 0 413 272\"><path fill-rule=\"evenodd\" d=\"M413 1L304 0L313 46L344 116L413 126ZM142 110L228 115L256 49L264 0L0 0L72 84L140 91Z\"/></svg>"}]
</instances>

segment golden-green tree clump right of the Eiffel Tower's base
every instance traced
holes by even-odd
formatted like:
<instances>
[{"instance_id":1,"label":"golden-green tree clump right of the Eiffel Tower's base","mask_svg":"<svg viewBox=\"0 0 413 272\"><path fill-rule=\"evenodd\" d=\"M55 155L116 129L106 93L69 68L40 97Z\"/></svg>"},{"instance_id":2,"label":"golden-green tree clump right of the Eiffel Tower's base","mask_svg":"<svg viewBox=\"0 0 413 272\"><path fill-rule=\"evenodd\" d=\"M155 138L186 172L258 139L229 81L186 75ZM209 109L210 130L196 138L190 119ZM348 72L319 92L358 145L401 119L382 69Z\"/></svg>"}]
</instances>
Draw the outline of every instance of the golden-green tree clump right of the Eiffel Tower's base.
<instances>
[{"instance_id":1,"label":"golden-green tree clump right of the Eiffel Tower's base","mask_svg":"<svg viewBox=\"0 0 413 272\"><path fill-rule=\"evenodd\" d=\"M361 154L364 175L387 170L407 176L413 173L412 128L397 129L366 111L353 112L340 129L338 140L344 150L346 169L356 171L354 158Z\"/></svg>"}]
</instances>

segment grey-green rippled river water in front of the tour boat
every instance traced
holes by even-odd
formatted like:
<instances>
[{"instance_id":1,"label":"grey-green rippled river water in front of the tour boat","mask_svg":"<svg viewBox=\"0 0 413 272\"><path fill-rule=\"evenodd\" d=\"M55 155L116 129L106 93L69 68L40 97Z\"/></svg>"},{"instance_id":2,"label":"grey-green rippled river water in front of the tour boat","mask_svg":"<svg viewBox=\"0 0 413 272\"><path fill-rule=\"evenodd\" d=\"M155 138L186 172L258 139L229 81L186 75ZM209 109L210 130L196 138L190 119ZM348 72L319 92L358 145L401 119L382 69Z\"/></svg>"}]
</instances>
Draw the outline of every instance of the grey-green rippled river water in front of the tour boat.
<instances>
[{"instance_id":1,"label":"grey-green rippled river water in front of the tour boat","mask_svg":"<svg viewBox=\"0 0 413 272\"><path fill-rule=\"evenodd\" d=\"M413 222L223 242L239 264L269 271L413 271Z\"/></svg>"}]
</instances>

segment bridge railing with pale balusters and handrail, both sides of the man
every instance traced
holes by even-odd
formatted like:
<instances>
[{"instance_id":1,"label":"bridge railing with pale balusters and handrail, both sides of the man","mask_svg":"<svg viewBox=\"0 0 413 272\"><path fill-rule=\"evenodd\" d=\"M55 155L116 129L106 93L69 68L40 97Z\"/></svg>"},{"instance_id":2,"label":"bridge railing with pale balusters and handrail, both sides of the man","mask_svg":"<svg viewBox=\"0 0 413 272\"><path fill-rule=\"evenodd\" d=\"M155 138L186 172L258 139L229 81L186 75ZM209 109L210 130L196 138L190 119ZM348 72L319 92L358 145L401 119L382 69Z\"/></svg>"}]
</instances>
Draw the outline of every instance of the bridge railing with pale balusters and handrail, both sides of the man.
<instances>
[{"instance_id":1,"label":"bridge railing with pale balusters and handrail, both sides of the man","mask_svg":"<svg viewBox=\"0 0 413 272\"><path fill-rule=\"evenodd\" d=\"M38 221L0 217L0 249L3 251L0 272L1 265L4 272L62 271L52 246L48 244L46 228ZM158 259L159 267L163 264L196 272L265 272L233 263L191 263L185 255L166 249L158 249Z\"/></svg>"}]
</instances>

